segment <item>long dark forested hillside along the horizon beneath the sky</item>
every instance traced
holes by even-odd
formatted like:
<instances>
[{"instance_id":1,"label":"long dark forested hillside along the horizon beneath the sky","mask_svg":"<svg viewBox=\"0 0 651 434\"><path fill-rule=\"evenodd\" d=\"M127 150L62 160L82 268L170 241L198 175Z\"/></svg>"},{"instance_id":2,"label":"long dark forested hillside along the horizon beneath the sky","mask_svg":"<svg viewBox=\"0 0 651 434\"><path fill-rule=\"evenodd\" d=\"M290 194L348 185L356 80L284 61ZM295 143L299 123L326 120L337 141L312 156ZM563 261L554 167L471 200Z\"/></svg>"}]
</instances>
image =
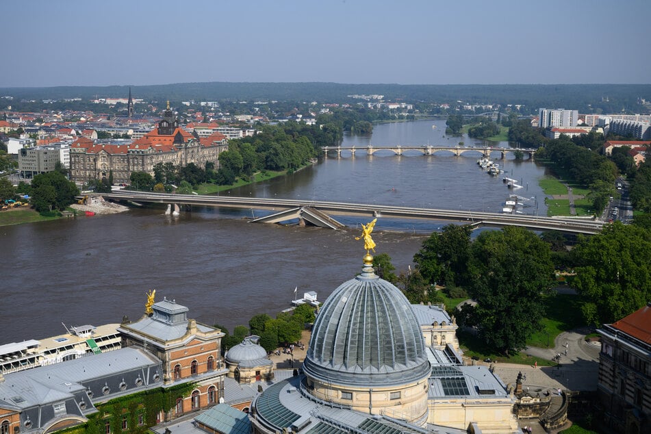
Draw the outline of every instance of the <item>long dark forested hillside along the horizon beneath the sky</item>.
<instances>
[{"instance_id":1,"label":"long dark forested hillside along the horizon beneath the sky","mask_svg":"<svg viewBox=\"0 0 651 434\"><path fill-rule=\"evenodd\" d=\"M97 97L145 101L317 101L354 103L352 94L381 94L387 101L408 103L492 103L524 105L534 114L539 107L579 110L581 113L645 113L651 110L651 84L339 84L339 83L179 83L155 86L58 86L0 88L11 96L14 110L21 101ZM7 101L7 100L4 100ZM9 101L7 101L9 103ZM4 105L4 104L2 104ZM522 110L521 110L522 112Z\"/></svg>"}]
</instances>

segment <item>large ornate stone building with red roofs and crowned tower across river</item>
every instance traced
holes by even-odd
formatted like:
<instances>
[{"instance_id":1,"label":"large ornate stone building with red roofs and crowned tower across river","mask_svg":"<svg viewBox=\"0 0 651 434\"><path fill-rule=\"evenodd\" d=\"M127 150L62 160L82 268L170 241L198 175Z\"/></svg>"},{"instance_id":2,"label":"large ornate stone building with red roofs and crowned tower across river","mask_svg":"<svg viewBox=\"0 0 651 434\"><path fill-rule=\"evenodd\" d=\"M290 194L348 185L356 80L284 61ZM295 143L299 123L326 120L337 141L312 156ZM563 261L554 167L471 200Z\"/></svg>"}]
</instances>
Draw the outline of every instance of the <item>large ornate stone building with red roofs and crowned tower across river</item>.
<instances>
[{"instance_id":1,"label":"large ornate stone building with red roofs and crowned tower across river","mask_svg":"<svg viewBox=\"0 0 651 434\"><path fill-rule=\"evenodd\" d=\"M129 183L133 172L153 176L158 163L205 167L210 162L218 167L219 154L227 149L226 138L220 133L200 139L179 127L168 103L158 127L133 142L75 140L70 149L70 177L71 181L86 183L108 179L112 171L114 183Z\"/></svg>"}]
</instances>

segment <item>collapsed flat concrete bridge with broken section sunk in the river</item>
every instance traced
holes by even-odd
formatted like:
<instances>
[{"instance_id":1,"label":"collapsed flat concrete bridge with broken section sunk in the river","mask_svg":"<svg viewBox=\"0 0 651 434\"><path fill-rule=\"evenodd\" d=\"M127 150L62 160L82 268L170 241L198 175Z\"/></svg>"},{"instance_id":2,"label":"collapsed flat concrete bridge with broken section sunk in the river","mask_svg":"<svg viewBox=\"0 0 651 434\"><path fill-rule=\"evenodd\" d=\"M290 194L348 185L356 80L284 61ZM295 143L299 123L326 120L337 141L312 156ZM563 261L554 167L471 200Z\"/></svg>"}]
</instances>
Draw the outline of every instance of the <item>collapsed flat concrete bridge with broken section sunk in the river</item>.
<instances>
[{"instance_id":1,"label":"collapsed flat concrete bridge with broken section sunk in the river","mask_svg":"<svg viewBox=\"0 0 651 434\"><path fill-rule=\"evenodd\" d=\"M542 216L527 216L513 214L497 214L490 212L474 212L461 209L433 209L425 207L407 207L377 205L368 203L346 203L346 202L328 202L328 201L301 201L296 199L280 198L255 198L255 197L238 197L238 196L208 196L200 194L170 194L170 193L153 193L153 192L136 192L120 190L103 194L105 199L114 201L136 202L136 203L162 203L162 204L179 204L186 207L205 206L205 207L227 207L241 209L264 209L274 213L286 212L294 209L288 218L296 218L296 209L314 209L326 216L365 216L365 217L385 217L385 218L405 218L412 220L436 220L436 221L457 221L478 227L503 227L503 226L520 226L534 231L563 231L568 233L588 233L594 234L601 231L604 222L594 219L579 218L552 218ZM316 214L316 213L313 213ZM319 214L322 216L322 214ZM282 218L282 216L279 216ZM279 218L267 219L268 222L279 222ZM264 219L259 219L259 221ZM329 224L319 224L324 218L306 219L314 225L322 227L337 226L336 222ZM342 227L341 225L340 227ZM335 228L333 228L335 229Z\"/></svg>"}]
</instances>

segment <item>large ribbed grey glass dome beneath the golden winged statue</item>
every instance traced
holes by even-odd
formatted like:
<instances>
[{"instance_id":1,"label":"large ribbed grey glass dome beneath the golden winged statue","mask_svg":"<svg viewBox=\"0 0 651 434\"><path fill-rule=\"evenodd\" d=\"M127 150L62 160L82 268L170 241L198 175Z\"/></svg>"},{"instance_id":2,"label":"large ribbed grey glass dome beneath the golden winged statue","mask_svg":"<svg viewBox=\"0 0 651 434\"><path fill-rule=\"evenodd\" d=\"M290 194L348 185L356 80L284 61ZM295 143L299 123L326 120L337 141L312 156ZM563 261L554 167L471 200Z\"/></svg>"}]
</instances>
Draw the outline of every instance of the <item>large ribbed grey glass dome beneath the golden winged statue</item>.
<instances>
[{"instance_id":1,"label":"large ribbed grey glass dome beneath the golden winged statue","mask_svg":"<svg viewBox=\"0 0 651 434\"><path fill-rule=\"evenodd\" d=\"M426 378L430 364L409 301L367 262L323 304L303 370L327 383L396 385Z\"/></svg>"}]
</instances>

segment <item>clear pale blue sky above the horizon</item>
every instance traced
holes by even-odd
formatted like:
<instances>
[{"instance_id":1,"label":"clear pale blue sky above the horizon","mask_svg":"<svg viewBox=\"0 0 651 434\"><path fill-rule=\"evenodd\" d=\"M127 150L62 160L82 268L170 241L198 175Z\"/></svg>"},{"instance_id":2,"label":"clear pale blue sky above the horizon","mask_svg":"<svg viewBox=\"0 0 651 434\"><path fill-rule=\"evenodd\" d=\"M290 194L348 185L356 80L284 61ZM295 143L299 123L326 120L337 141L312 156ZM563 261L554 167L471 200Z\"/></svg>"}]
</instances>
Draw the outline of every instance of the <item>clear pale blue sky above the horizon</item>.
<instances>
[{"instance_id":1,"label":"clear pale blue sky above the horizon","mask_svg":"<svg viewBox=\"0 0 651 434\"><path fill-rule=\"evenodd\" d=\"M649 0L3 0L0 10L0 88L651 82Z\"/></svg>"}]
</instances>

